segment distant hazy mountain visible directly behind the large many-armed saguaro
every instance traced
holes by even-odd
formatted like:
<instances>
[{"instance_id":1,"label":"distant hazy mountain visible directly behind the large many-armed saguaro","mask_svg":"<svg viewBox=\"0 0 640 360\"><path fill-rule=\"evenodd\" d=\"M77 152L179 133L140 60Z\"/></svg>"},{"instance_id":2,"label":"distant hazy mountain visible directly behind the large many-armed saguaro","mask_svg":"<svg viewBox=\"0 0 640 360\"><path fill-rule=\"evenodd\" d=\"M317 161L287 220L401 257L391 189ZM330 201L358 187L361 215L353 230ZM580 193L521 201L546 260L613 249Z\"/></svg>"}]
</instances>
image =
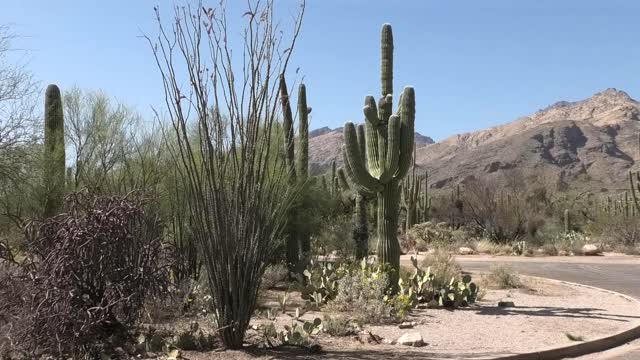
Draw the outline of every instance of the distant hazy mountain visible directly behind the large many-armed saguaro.
<instances>
[{"instance_id":1,"label":"distant hazy mountain visible directly behind the large many-armed saguaro","mask_svg":"<svg viewBox=\"0 0 640 360\"><path fill-rule=\"evenodd\" d=\"M416 147L435 143L432 138L415 133ZM342 166L342 127L331 129L327 126L309 132L309 166L311 174L324 173L331 167L333 159Z\"/></svg>"}]
</instances>

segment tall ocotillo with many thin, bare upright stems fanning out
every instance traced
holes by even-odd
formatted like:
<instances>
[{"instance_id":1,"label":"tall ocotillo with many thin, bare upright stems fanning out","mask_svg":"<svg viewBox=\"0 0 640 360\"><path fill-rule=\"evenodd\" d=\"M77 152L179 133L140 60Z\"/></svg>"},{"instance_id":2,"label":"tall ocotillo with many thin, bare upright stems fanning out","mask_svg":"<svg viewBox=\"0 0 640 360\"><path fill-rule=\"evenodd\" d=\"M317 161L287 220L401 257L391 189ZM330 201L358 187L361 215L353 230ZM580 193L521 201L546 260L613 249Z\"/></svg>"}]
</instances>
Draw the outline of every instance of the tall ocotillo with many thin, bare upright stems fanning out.
<instances>
[{"instance_id":1,"label":"tall ocotillo with many thin, bare upright stems fanning out","mask_svg":"<svg viewBox=\"0 0 640 360\"><path fill-rule=\"evenodd\" d=\"M272 0L248 2L241 39L229 29L224 4L176 6L168 29L156 9L159 34L147 40L164 85L170 151L187 192L214 325L225 346L241 348L261 277L299 195L288 184L276 129L278 74L286 72L304 2L289 38ZM242 56L232 59L233 49Z\"/></svg>"}]
</instances>

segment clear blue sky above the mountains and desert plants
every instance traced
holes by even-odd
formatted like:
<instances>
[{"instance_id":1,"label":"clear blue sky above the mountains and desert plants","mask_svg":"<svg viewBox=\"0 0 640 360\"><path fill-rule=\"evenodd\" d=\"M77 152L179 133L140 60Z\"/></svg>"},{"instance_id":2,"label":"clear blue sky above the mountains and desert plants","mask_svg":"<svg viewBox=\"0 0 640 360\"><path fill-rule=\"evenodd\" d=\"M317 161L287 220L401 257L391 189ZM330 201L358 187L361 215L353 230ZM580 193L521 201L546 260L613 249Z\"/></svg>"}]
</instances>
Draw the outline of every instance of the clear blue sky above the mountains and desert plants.
<instances>
[{"instance_id":1,"label":"clear blue sky above the mountains and desert plants","mask_svg":"<svg viewBox=\"0 0 640 360\"><path fill-rule=\"evenodd\" d=\"M277 1L283 16L297 3ZM5 0L0 24L22 35L14 46L43 85L102 89L150 116L162 94L139 36L155 34L153 6L172 3ZM638 14L632 0L308 0L292 68L305 76L312 128L361 121L364 96L379 94L389 22L396 93L413 85L417 130L442 139L608 87L640 96Z\"/></svg>"}]
</instances>

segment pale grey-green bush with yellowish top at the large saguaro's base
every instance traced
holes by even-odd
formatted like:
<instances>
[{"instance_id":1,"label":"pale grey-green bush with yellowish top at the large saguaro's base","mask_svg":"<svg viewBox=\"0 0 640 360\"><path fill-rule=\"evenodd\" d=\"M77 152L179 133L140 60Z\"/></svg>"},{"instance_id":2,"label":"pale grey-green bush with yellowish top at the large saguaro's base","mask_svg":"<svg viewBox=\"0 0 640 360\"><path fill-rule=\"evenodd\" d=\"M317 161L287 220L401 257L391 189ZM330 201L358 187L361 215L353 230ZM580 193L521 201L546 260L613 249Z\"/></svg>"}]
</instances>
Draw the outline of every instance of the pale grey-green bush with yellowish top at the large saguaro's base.
<instances>
[{"instance_id":1,"label":"pale grey-green bush with yellowish top at the large saguaro's base","mask_svg":"<svg viewBox=\"0 0 640 360\"><path fill-rule=\"evenodd\" d=\"M392 306L385 300L389 276L370 266L344 274L337 283L338 293L331 308L348 312L359 324L378 324L393 320Z\"/></svg>"}]
</instances>

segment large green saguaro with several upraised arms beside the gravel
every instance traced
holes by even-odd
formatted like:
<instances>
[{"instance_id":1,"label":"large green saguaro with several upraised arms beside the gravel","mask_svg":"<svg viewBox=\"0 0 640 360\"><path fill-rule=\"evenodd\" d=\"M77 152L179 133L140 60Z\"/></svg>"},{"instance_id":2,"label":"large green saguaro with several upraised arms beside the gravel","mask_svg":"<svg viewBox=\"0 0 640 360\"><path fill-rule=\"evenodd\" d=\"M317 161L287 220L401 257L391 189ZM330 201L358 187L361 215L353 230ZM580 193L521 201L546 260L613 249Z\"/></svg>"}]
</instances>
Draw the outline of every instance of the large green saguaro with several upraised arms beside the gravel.
<instances>
[{"instance_id":1,"label":"large green saguaro with several upraised arms beside the gravel","mask_svg":"<svg viewBox=\"0 0 640 360\"><path fill-rule=\"evenodd\" d=\"M376 107L373 96L365 99L365 131L356 132L353 123L344 127L343 157L351 180L364 191L377 194L378 260L389 264L391 290L397 288L400 270L398 211L400 183L411 168L414 143L415 93L406 87L399 108L392 115L393 34L391 25L382 27L382 97Z\"/></svg>"}]
</instances>

